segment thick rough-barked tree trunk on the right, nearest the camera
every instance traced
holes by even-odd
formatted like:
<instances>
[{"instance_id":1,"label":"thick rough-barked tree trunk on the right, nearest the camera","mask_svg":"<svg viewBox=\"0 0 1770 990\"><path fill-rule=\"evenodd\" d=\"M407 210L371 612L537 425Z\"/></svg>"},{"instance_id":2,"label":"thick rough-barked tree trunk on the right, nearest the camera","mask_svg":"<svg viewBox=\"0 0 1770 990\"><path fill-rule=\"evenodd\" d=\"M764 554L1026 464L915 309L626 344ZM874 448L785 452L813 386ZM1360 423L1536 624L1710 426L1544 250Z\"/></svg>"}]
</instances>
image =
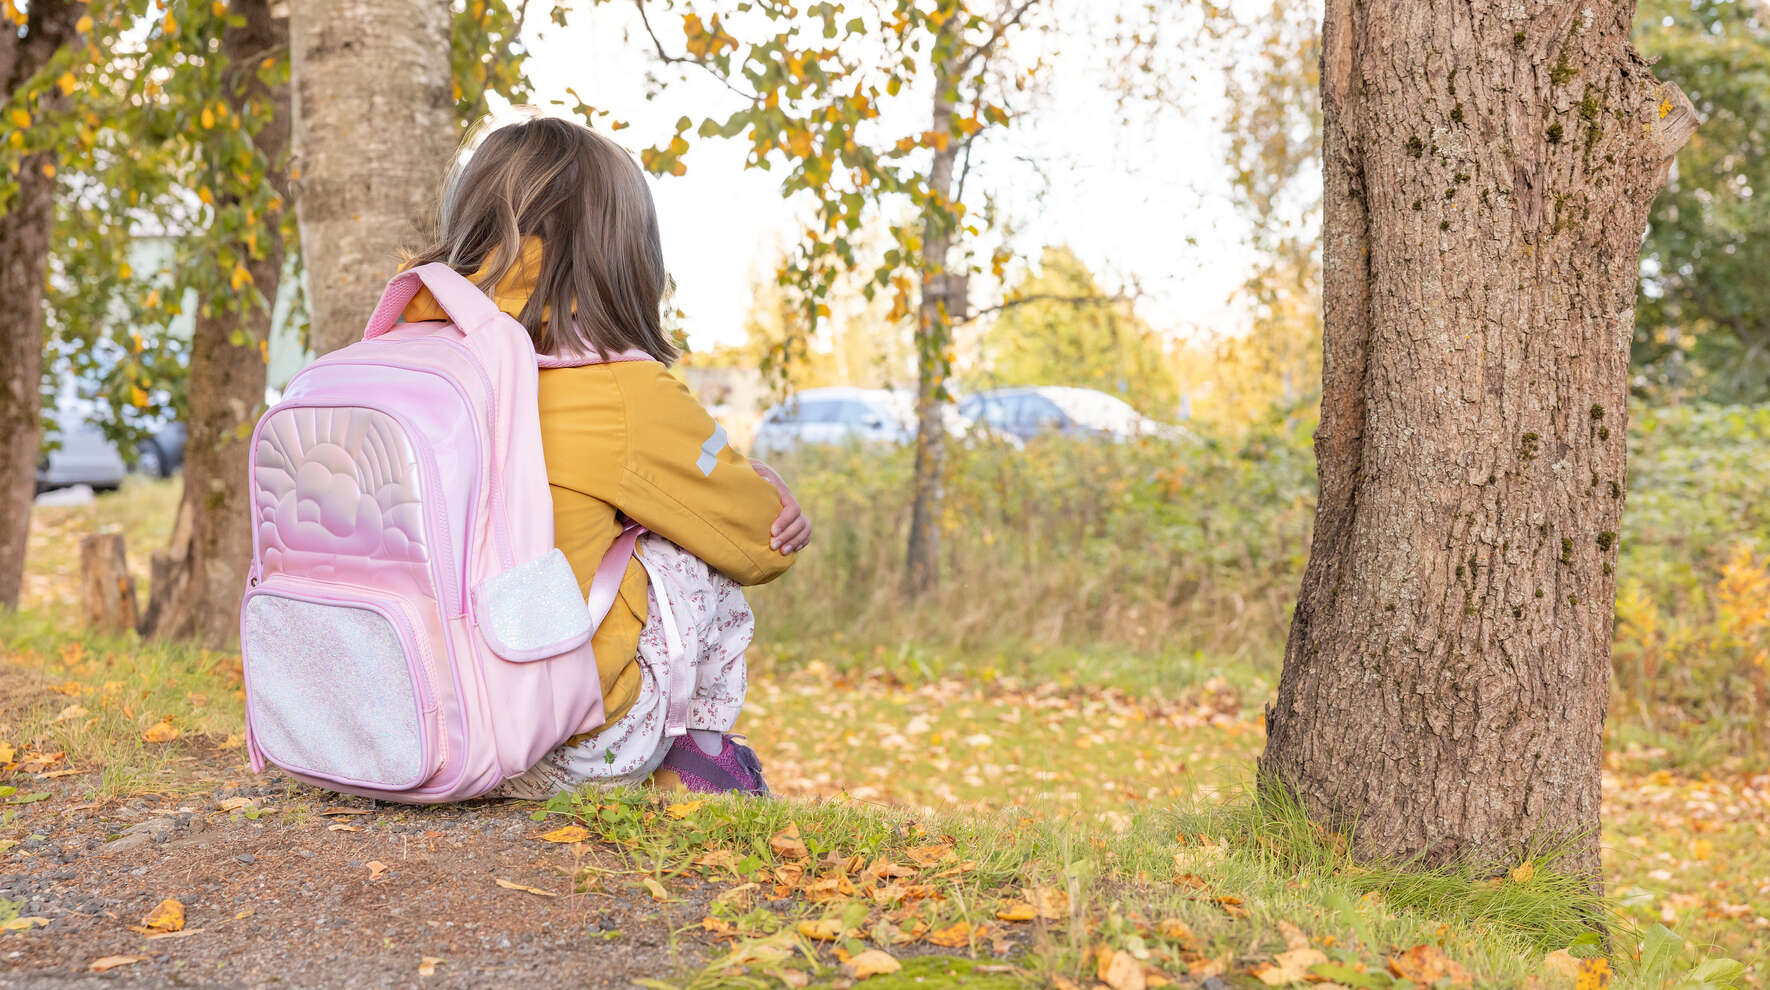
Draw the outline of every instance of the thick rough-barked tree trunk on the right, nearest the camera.
<instances>
[{"instance_id":1,"label":"thick rough-barked tree trunk on the right, nearest the camera","mask_svg":"<svg viewBox=\"0 0 1770 990\"><path fill-rule=\"evenodd\" d=\"M1597 880L1637 259L1696 126L1632 16L1328 4L1320 503L1260 776L1370 857Z\"/></svg>"}]
</instances>

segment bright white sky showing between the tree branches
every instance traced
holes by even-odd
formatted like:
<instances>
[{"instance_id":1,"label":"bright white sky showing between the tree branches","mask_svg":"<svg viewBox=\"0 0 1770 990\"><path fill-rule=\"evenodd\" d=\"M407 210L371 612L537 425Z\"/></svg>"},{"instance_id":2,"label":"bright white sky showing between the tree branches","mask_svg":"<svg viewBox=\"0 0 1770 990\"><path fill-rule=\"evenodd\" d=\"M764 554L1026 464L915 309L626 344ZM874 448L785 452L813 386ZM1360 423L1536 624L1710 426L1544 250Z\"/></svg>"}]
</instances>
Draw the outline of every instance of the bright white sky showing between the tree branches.
<instances>
[{"instance_id":1,"label":"bright white sky showing between the tree branches","mask_svg":"<svg viewBox=\"0 0 1770 990\"><path fill-rule=\"evenodd\" d=\"M671 25L653 23L666 43L680 37L669 34ZM666 142L681 115L699 120L733 106L713 78L692 73L678 81L658 67L627 4L581 7L566 28L531 25L526 41L536 103L575 104L566 97L573 89L630 124L612 136L635 152ZM1163 110L1143 113L1149 122L1120 126L1097 44L1066 32L1023 44L1050 55L1046 92L979 145L970 179L995 193L1020 253L1037 257L1043 244L1071 244L1108 285L1140 285L1138 310L1166 333L1235 326L1228 296L1251 259L1228 200L1220 124L1204 112ZM646 99L648 71L667 83L655 99ZM1198 81L1186 85L1198 90L1188 106L1221 101L1214 69L1200 67ZM899 99L915 101L904 113L926 115L926 101L910 90ZM708 349L742 340L756 273L770 271L772 246L788 243L798 227L775 174L743 168L740 142L697 140L683 161L687 175L653 181L653 197L685 329L696 349ZM974 290L974 303L988 299Z\"/></svg>"}]
</instances>

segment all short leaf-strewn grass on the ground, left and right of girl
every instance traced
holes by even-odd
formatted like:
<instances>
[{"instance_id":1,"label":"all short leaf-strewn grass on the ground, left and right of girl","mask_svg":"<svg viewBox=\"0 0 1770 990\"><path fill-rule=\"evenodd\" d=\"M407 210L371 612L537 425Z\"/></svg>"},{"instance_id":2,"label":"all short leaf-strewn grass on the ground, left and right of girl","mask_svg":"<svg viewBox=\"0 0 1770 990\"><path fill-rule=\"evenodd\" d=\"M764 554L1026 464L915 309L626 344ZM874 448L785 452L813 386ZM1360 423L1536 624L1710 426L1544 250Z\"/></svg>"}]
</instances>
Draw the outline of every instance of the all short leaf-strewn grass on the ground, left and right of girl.
<instances>
[{"instance_id":1,"label":"all short leaf-strewn grass on the ground, left and right of girl","mask_svg":"<svg viewBox=\"0 0 1770 990\"><path fill-rule=\"evenodd\" d=\"M156 726L184 740L237 746L237 655L99 638L57 620L73 615L69 545L88 530L119 524L142 570L175 501L175 485L138 485L90 507L39 514L30 563L39 604L0 615L0 747L16 749L18 760L11 772L0 770L0 785L16 788L0 797L0 829L16 811L5 802L34 793L37 774L103 767L87 795L94 801L181 786L188 749L149 742ZM777 592L809 593L768 590ZM759 611L768 602L759 595ZM712 801L683 818L637 795L556 811L616 843L628 857L623 870L639 868L666 887L690 875L719 877L727 887L756 882L749 877L781 866L770 839L789 822L820 862L844 850L896 857L950 839L956 862L975 868L931 878L943 896L919 907L919 917L929 932L940 930L935 923L966 921L1011 937L1014 971L981 962L965 974L974 981L1030 974L1090 985L1106 947L1172 976L1204 972L1227 956L1227 974L1248 983L1246 971L1306 942L1329 963L1363 967L1336 971L1342 985L1388 986L1393 953L1430 946L1480 985L1513 986L1540 978L1547 951L1584 946L1581 932L1605 910L1616 919L1611 962L1623 986L1674 986L1701 965L1719 969L1706 983L1682 985L1728 985L1726 956L1759 960L1770 944L1770 921L1761 921L1770 916L1770 776L1728 763L1678 765L1680 753L1662 746L1662 735L1635 731L1634 723L1618 726L1605 769L1612 898L1600 909L1559 880L1552 862L1533 862L1526 880L1510 873L1520 864L1496 864L1490 877L1354 864L1335 836L1253 801L1248 772L1262 744L1260 705L1273 671L1246 652L1112 636L1076 643L1025 630L963 648L926 638L880 643L830 620L791 632L796 615L777 609L773 636L752 652L740 726L791 801ZM71 707L85 712L65 715ZM57 762L28 763L55 753ZM605 811L616 808L625 811ZM696 866L710 848L742 854L740 870ZM1202 886L1175 882L1186 875ZM1067 914L1030 923L995 917L1028 889L1062 891ZM798 921L844 909L816 900L804 884L779 900L713 912L743 924L733 951L773 960L745 963L752 974L779 963L837 979L830 946L804 937ZM867 907L869 939L885 912L887 905ZM1193 937L1163 935L1168 919ZM1655 928L1660 923L1682 937ZM768 939L775 942L756 947ZM958 951L974 942L995 947L993 939L966 939ZM812 946L823 951L807 956ZM961 963L913 962L936 967L935 976L950 965ZM690 985L729 985L726 969ZM1761 978L1759 967L1745 979ZM869 983L885 979L913 976Z\"/></svg>"}]
</instances>

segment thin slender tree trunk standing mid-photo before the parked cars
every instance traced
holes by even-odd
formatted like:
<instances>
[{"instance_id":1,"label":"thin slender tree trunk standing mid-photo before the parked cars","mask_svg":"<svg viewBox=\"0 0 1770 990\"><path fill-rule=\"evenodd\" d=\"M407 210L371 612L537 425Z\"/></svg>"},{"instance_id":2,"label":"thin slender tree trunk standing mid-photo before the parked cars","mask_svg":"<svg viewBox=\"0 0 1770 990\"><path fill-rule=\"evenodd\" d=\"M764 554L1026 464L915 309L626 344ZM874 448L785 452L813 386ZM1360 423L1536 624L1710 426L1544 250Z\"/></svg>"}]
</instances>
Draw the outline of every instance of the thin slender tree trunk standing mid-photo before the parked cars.
<instances>
[{"instance_id":1,"label":"thin slender tree trunk standing mid-photo before the parked cars","mask_svg":"<svg viewBox=\"0 0 1770 990\"><path fill-rule=\"evenodd\" d=\"M949 21L950 23L950 21ZM915 480L910 501L910 545L906 551L904 593L922 595L940 584L940 512L947 460L947 422L942 390L949 372L947 349L952 340L952 299L947 287L947 251L952 246L952 165L958 143L952 133L950 32L935 41L935 113L931 135L949 140L935 147L927 172L929 202L922 218L922 301L915 319Z\"/></svg>"}]
</instances>

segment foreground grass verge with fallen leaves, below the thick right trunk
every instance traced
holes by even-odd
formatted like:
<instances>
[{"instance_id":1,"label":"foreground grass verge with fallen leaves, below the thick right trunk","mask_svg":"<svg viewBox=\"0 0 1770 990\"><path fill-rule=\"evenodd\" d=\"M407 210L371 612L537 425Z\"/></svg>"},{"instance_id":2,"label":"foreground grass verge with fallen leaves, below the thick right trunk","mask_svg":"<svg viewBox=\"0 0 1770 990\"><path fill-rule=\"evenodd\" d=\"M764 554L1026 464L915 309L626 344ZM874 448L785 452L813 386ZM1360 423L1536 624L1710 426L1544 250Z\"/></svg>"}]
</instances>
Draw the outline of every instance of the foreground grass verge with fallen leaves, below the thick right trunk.
<instances>
[{"instance_id":1,"label":"foreground grass verge with fallen leaves, below the thick right trunk","mask_svg":"<svg viewBox=\"0 0 1770 990\"><path fill-rule=\"evenodd\" d=\"M1041 985L1081 986L1120 953L1149 983L1253 976L1287 958L1319 979L1400 986L1418 951L1474 985L1517 986L1547 953L1595 946L1607 917L1552 862L1499 884L1359 866L1271 806L1143 809L1120 829L1055 811L644 792L561 795L549 809L666 889L713 884L697 930L735 955L683 986L835 978L867 949L995 958Z\"/></svg>"}]
</instances>

